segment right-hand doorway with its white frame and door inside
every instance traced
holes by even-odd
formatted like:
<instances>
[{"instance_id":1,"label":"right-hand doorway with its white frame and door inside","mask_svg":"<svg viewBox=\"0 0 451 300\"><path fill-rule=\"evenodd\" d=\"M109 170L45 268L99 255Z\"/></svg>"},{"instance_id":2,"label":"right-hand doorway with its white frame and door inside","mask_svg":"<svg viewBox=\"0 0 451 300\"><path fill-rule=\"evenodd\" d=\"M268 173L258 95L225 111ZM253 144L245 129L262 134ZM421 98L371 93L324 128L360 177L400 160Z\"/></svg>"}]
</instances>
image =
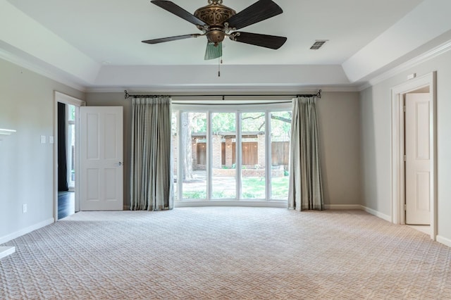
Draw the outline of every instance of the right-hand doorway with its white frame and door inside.
<instances>
[{"instance_id":1,"label":"right-hand doorway with its white frame and door inside","mask_svg":"<svg viewBox=\"0 0 451 300\"><path fill-rule=\"evenodd\" d=\"M426 221L419 221L421 223L430 223L429 234L431 239L435 240L437 235L437 204L436 204L436 94L435 94L435 73L424 75L414 80L409 80L402 85L393 87L392 89L392 222L395 224L408 224L415 223L416 216L414 206L421 211L428 210L426 215ZM409 137L412 135L410 127L412 127L412 120L408 120L410 117L404 114L406 110L406 103L409 101L409 105L412 105L412 96L414 94L423 96L426 94L426 101L421 104L414 105L413 115L419 117L419 122L423 123L423 130L425 139L419 141L419 133L414 130L414 138ZM407 101L406 101L407 99ZM409 100L411 99L411 100ZM419 111L420 106L424 106L423 111ZM409 114L412 115L412 114ZM406 131L408 130L408 131ZM416 146L409 142L413 140L416 142ZM411 143L411 144L409 144ZM410 152L409 152L410 151ZM413 151L413 155L412 155ZM407 155L409 159L421 158L419 161L423 163L418 170L410 170L412 163L408 163ZM422 157L427 156L427 160ZM413 179L412 179L413 178ZM412 183L414 182L414 183ZM421 186L419 184L421 183ZM415 194L417 193L417 194ZM414 204L409 201L414 199ZM419 199L427 199L419 204ZM407 202L406 202L407 201ZM410 207L409 207L410 206ZM422 207L421 207L422 206ZM408 211L408 210L411 211ZM409 215L409 216L408 216ZM424 216L424 215L423 215Z\"/></svg>"}]
</instances>

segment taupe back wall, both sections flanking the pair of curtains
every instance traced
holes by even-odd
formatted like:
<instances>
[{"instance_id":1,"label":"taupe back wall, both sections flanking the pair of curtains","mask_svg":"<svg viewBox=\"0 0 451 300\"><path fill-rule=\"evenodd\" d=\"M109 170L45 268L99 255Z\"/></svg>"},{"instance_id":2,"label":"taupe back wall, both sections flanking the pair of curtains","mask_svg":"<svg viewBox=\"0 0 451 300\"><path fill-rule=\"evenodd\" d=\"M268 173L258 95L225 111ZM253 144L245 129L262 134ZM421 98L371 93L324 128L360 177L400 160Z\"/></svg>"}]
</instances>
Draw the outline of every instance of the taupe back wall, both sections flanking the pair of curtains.
<instances>
[{"instance_id":1,"label":"taupe back wall, both sections flanking the pair of curtains","mask_svg":"<svg viewBox=\"0 0 451 300\"><path fill-rule=\"evenodd\" d=\"M123 93L87 93L88 106L124 107L124 205L130 205L131 101ZM326 92L318 101L326 205L360 202L359 94Z\"/></svg>"}]
</instances>

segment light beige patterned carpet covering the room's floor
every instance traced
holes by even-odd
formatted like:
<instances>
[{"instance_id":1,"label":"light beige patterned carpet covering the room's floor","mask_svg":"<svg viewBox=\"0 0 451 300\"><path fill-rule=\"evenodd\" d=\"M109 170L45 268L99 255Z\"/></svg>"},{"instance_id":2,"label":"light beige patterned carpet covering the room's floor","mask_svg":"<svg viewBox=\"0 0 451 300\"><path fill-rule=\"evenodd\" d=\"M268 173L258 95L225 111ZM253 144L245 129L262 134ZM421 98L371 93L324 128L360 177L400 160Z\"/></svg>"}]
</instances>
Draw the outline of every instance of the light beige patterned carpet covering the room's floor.
<instances>
[{"instance_id":1,"label":"light beige patterned carpet covering the room's floor","mask_svg":"<svg viewBox=\"0 0 451 300\"><path fill-rule=\"evenodd\" d=\"M0 299L451 299L451 248L362 211L82 212L6 245Z\"/></svg>"}]
</instances>

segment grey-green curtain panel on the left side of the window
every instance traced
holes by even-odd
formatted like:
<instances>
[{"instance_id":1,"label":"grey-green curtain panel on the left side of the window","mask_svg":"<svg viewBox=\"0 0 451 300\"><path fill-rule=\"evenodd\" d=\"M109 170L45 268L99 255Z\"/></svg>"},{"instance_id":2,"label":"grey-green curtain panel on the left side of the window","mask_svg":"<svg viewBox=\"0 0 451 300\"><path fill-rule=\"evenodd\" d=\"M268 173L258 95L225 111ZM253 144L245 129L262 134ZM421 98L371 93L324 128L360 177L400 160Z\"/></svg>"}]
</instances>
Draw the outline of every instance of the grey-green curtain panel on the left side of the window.
<instances>
[{"instance_id":1,"label":"grey-green curtain panel on the left side of the window","mask_svg":"<svg viewBox=\"0 0 451 300\"><path fill-rule=\"evenodd\" d=\"M132 99L132 165L130 209L173 208L171 99Z\"/></svg>"}]
</instances>

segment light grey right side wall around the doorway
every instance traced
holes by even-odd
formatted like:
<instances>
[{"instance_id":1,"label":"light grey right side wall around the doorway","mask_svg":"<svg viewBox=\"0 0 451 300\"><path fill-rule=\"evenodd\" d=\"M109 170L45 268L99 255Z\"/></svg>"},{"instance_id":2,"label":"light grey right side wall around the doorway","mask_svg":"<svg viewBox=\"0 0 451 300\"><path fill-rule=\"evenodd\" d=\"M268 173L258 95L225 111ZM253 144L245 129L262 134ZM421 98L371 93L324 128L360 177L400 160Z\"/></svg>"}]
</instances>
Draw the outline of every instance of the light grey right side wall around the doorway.
<instances>
[{"instance_id":1,"label":"light grey right side wall around the doorway","mask_svg":"<svg viewBox=\"0 0 451 300\"><path fill-rule=\"evenodd\" d=\"M438 235L451 242L451 51L406 70L360 96L362 124L362 205L391 215L390 89L417 76L437 71Z\"/></svg>"}]
</instances>

